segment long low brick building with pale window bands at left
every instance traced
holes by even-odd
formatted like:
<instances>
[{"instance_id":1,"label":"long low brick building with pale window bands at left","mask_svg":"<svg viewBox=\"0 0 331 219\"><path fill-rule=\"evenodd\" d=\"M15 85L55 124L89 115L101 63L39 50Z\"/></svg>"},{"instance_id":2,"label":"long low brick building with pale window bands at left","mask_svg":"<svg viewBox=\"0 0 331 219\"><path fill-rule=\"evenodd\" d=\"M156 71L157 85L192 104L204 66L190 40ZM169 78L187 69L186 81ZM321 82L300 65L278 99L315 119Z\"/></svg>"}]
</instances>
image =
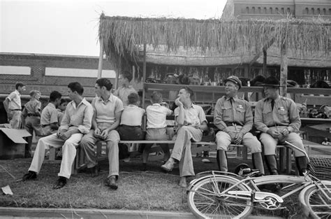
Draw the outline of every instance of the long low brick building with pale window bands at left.
<instances>
[{"instance_id":1,"label":"long low brick building with pale window bands at left","mask_svg":"<svg viewBox=\"0 0 331 219\"><path fill-rule=\"evenodd\" d=\"M103 61L103 77L112 78L112 83L114 69L106 59ZM0 52L0 94L9 94L21 81L27 85L25 94L40 90L49 95L58 90L66 95L68 83L78 81L84 86L84 96L94 97L97 71L98 57Z\"/></svg>"}]
</instances>

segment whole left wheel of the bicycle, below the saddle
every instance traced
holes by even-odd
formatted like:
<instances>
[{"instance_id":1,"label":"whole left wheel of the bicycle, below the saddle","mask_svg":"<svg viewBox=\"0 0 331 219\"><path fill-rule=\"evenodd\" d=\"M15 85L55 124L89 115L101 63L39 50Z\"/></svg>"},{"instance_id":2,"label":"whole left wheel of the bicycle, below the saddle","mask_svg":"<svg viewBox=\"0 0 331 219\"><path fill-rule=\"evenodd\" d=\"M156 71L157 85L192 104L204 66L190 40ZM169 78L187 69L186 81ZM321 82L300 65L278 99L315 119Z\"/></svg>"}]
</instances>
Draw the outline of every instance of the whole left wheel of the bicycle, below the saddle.
<instances>
[{"instance_id":1,"label":"whole left wheel of the bicycle, below the saddle","mask_svg":"<svg viewBox=\"0 0 331 219\"><path fill-rule=\"evenodd\" d=\"M187 201L192 213L198 218L244 218L249 216L253 207L251 200L240 197L219 196L238 181L221 176L205 178L196 183L189 191ZM243 184L236 185L231 191L248 191Z\"/></svg>"}]
</instances>

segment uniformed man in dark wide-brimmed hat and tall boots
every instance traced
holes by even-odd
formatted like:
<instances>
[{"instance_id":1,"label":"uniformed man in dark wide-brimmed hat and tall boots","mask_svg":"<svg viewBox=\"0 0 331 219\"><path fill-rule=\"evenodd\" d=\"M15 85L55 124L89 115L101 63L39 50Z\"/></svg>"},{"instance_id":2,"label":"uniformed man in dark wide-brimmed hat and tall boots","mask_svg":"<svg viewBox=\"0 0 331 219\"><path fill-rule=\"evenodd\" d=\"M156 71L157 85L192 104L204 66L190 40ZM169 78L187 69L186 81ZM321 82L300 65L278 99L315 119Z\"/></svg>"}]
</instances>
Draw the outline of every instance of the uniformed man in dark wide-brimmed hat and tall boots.
<instances>
[{"instance_id":1,"label":"uniformed man in dark wide-brimmed hat and tall boots","mask_svg":"<svg viewBox=\"0 0 331 219\"><path fill-rule=\"evenodd\" d=\"M297 106L292 99L279 95L279 80L274 76L263 81L265 98L258 101L255 108L256 129L260 132L260 141L265 150L265 162L270 174L277 175L275 157L277 143L288 141L304 150L299 132L301 121ZM298 150L294 150L295 161L300 176L307 169L307 158Z\"/></svg>"}]
</instances>

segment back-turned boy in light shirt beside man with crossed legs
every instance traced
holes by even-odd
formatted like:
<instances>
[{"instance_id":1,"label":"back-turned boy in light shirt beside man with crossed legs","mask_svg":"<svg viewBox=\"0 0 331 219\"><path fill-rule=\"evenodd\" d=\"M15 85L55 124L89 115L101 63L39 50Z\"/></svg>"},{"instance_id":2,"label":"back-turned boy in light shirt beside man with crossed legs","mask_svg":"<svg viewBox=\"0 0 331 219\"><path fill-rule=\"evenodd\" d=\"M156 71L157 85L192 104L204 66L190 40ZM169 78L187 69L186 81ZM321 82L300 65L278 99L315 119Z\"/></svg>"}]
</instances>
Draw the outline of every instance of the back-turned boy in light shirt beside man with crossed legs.
<instances>
[{"instance_id":1,"label":"back-turned boy in light shirt beside man with crossed legs","mask_svg":"<svg viewBox=\"0 0 331 219\"><path fill-rule=\"evenodd\" d=\"M167 124L165 122L167 115L171 115L172 111L162 106L162 94L154 91L151 95L151 106L147 106L147 133L146 140L164 141L168 140ZM149 149L153 144L146 144L144 151L142 152L142 171L147 169L147 160L149 155ZM163 150L163 160L167 161L170 158L170 150L168 143L161 143L160 147Z\"/></svg>"}]
</instances>

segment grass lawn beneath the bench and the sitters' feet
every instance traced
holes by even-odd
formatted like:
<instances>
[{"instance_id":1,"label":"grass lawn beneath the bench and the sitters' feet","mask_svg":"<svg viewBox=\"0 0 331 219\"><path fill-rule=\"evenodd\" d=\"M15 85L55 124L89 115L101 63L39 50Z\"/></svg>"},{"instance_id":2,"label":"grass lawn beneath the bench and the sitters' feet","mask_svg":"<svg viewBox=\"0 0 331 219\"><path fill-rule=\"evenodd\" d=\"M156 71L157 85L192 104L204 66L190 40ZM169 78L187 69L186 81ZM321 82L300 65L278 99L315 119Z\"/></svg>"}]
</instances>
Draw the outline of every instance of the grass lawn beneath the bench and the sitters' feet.
<instances>
[{"instance_id":1,"label":"grass lawn beneath the bench and the sitters' feet","mask_svg":"<svg viewBox=\"0 0 331 219\"><path fill-rule=\"evenodd\" d=\"M212 163L203 163L202 157L193 157L196 173L217 169L216 159L209 157ZM149 170L140 171L140 158L131 158L131 162L120 162L118 190L110 190L103 185L108 175L108 162L101 162L101 174L91 178L86 173L74 174L68 184L53 190L57 180L59 162L45 162L41 173L34 181L15 182L29 168L30 159L0 160L0 186L10 185L14 195L0 195L0 206L41 207L41 208L92 208L92 209L133 209L147 211L186 211L189 206L186 194L177 185L179 169L171 174L160 170L161 162L149 162ZM229 159L229 170L233 171L237 164L244 161ZM245 161L251 165L251 161ZM10 176L12 175L12 176ZM286 203L289 216L302 218L297 199ZM298 213L299 212L299 213ZM284 211L253 210L255 215L284 216Z\"/></svg>"}]
</instances>

